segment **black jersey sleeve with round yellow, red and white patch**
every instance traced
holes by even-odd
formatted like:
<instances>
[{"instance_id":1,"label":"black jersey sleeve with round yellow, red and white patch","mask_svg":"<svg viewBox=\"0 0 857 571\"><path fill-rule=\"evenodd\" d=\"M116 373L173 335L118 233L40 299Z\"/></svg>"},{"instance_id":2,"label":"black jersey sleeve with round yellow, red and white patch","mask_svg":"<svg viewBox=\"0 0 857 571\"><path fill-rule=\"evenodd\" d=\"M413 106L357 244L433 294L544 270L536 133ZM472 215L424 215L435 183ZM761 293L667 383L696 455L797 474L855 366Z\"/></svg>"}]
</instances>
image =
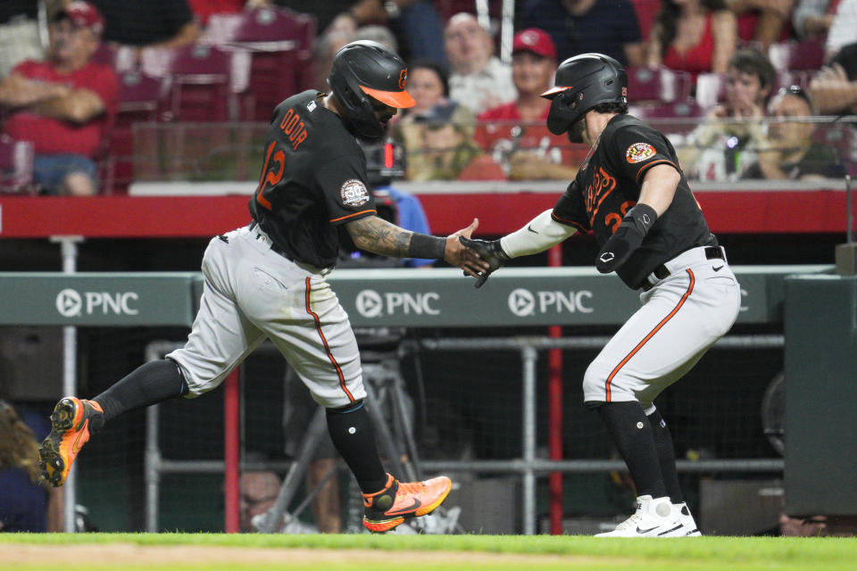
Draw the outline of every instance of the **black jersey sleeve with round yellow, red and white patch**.
<instances>
[{"instance_id":1,"label":"black jersey sleeve with round yellow, red and white patch","mask_svg":"<svg viewBox=\"0 0 857 571\"><path fill-rule=\"evenodd\" d=\"M675 170L678 159L672 144L659 131L643 123L621 125L612 133L609 143L611 152L608 161L612 170L622 178L629 178L640 185L645 171L657 164L669 164Z\"/></svg>"}]
</instances>

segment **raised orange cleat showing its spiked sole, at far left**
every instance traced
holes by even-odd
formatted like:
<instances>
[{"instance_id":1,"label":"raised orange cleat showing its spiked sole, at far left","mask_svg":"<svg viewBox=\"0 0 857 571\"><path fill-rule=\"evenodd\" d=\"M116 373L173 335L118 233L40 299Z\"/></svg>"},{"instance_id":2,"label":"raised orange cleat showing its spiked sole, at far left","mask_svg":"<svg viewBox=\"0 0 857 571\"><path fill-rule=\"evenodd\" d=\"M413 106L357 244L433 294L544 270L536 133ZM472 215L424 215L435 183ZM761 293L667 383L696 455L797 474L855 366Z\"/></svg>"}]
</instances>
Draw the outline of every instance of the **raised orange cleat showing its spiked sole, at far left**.
<instances>
[{"instance_id":1,"label":"raised orange cleat showing its spiked sole, at far left","mask_svg":"<svg viewBox=\"0 0 857 571\"><path fill-rule=\"evenodd\" d=\"M51 415L51 434L38 447L42 474L51 485L65 484L71 463L89 442L90 430L103 425L104 410L96 401L69 396L56 403Z\"/></svg>"}]
</instances>

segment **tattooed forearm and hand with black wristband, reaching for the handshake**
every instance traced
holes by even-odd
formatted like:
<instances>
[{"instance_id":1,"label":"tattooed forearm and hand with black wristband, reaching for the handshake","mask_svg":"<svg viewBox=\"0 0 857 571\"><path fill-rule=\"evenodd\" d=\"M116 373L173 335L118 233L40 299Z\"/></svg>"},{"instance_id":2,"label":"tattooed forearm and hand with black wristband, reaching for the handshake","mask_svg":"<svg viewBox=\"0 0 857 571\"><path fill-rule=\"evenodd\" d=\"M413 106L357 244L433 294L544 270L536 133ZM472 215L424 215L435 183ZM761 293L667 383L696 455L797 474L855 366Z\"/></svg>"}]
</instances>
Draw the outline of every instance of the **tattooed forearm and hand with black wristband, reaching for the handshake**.
<instances>
[{"instance_id":1,"label":"tattooed forearm and hand with black wristband, reaching for the handshake","mask_svg":"<svg viewBox=\"0 0 857 571\"><path fill-rule=\"evenodd\" d=\"M478 253L459 242L459 236L469 238L478 227L478 219L450 236L438 237L399 228L378 216L365 216L345 224L348 234L361 250L395 258L432 258L445 260L478 277L488 264Z\"/></svg>"}]
</instances>

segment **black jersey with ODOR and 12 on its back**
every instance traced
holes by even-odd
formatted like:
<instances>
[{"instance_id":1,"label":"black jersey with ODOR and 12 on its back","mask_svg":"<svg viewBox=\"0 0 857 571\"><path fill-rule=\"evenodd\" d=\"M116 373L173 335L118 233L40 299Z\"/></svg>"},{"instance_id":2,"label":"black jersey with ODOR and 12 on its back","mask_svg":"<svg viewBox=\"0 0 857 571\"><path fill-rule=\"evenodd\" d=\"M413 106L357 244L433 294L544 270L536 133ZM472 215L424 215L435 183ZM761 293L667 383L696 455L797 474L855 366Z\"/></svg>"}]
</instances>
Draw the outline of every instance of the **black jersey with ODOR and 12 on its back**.
<instances>
[{"instance_id":1,"label":"black jersey with ODOR and 12 on its back","mask_svg":"<svg viewBox=\"0 0 857 571\"><path fill-rule=\"evenodd\" d=\"M337 226L376 213L362 148L317 91L274 110L250 213L287 258L318 268L337 261Z\"/></svg>"}]
</instances>

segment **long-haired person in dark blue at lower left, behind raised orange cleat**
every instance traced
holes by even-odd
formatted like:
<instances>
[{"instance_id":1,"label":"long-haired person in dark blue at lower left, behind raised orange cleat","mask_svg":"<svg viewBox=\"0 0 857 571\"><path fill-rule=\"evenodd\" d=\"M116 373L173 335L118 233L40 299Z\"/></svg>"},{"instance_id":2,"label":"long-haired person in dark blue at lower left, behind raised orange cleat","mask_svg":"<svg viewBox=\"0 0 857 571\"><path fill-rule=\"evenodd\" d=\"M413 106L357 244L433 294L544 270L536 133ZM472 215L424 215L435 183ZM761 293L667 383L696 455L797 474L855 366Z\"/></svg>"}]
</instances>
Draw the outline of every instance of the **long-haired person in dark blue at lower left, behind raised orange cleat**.
<instances>
[{"instance_id":1,"label":"long-haired person in dark blue at lower left, behind raised orange cleat","mask_svg":"<svg viewBox=\"0 0 857 571\"><path fill-rule=\"evenodd\" d=\"M46 429L46 436L50 429ZM37 435L0 400L0 531L62 531L62 492L38 484Z\"/></svg>"}]
</instances>

